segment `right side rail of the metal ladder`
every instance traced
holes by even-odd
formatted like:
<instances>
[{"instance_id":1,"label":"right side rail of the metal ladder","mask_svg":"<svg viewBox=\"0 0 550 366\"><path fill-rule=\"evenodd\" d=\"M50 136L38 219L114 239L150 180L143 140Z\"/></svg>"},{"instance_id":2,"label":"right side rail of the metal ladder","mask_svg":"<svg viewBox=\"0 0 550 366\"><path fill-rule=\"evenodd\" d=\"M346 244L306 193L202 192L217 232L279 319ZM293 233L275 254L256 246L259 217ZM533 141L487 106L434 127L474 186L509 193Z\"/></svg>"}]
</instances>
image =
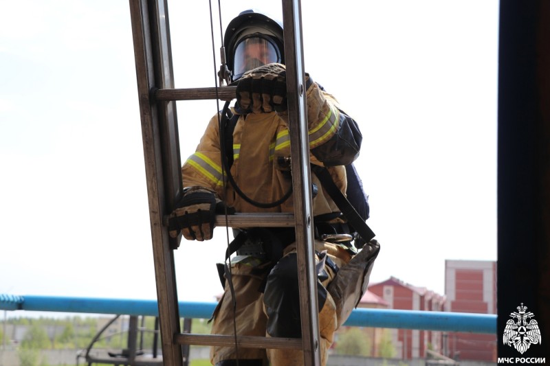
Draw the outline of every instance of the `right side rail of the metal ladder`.
<instances>
[{"instance_id":1,"label":"right side rail of the metal ladder","mask_svg":"<svg viewBox=\"0 0 550 366\"><path fill-rule=\"evenodd\" d=\"M300 321L304 365L311 366L320 365L320 335L301 16L300 0L283 0Z\"/></svg>"}]
</instances>

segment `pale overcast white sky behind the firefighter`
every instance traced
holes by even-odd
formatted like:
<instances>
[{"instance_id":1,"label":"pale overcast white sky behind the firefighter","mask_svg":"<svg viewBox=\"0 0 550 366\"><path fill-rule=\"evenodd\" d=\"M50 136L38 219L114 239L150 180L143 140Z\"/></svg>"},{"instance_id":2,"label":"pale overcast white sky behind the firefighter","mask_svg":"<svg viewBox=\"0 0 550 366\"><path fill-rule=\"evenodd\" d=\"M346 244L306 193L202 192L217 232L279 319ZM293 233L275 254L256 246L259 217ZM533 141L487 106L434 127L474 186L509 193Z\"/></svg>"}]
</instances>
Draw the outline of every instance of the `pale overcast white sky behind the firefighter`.
<instances>
[{"instance_id":1,"label":"pale overcast white sky behind the firefighter","mask_svg":"<svg viewBox=\"0 0 550 366\"><path fill-rule=\"evenodd\" d=\"M443 295L445 260L496 260L498 1L336 3L301 3L305 71L362 130L355 166L382 248L371 283ZM281 14L221 0L223 27L254 7ZM128 1L0 9L0 294L155 299ZM208 1L168 12L175 87L214 86ZM218 108L177 102L182 161ZM180 301L222 292L226 245L225 228L181 243Z\"/></svg>"}]
</instances>

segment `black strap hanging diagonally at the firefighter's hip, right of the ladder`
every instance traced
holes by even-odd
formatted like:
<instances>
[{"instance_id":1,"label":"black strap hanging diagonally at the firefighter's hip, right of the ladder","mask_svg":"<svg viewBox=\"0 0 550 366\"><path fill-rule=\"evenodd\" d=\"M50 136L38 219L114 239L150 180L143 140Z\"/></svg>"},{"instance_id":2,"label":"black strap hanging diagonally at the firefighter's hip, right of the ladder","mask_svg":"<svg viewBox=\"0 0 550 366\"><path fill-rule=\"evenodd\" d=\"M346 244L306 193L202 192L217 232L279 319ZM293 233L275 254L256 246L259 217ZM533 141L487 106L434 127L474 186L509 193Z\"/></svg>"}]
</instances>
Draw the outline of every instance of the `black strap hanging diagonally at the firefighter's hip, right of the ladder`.
<instances>
[{"instance_id":1,"label":"black strap hanging diagonally at the firefighter's hip, right of the ladder","mask_svg":"<svg viewBox=\"0 0 550 366\"><path fill-rule=\"evenodd\" d=\"M375 237L375 233L369 225L366 225L365 220L355 211L353 205L349 203L344 194L338 189L327 168L311 164L311 171L315 173L322 187L325 188L329 196L331 196L332 201L336 203L342 214L344 214L344 217L347 218L349 225L358 232L365 242L370 242Z\"/></svg>"}]
</instances>

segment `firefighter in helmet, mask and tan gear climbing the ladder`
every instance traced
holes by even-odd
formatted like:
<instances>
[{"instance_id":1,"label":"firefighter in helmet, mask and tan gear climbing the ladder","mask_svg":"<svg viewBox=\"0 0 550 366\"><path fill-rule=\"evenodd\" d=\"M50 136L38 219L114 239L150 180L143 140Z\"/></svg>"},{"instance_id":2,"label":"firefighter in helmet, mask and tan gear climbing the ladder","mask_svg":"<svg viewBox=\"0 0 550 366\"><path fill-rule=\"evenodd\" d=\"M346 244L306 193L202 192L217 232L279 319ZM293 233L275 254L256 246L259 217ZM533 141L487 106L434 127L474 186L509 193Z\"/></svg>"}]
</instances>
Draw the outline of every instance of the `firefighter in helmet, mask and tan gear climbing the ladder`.
<instances>
[{"instance_id":1,"label":"firefighter in helmet, mask and tan gear climbing the ladder","mask_svg":"<svg viewBox=\"0 0 550 366\"><path fill-rule=\"evenodd\" d=\"M233 117L214 115L196 152L184 163L184 195L169 216L173 237L181 230L187 240L210 240L215 214L227 209L239 213L294 212L283 27L264 14L246 10L228 25L224 46L232 82L238 82L230 113ZM305 82L311 163L328 167L334 183L346 192L345 165L359 155L360 130L311 76L307 75ZM225 118L225 124L232 120L233 128L221 130L220 118ZM220 138L224 133L229 136ZM231 183L223 184L229 176ZM320 240L324 233L349 238L349 227L319 179L313 174L311 179L316 261L324 263L318 270L318 316L320 354L325 365L333 334L347 317L339 312L342 304L338 301L342 299L333 299L327 287L357 251L349 239L343 244ZM234 234L238 249L214 311L212 334L233 335L236 329L239 336L300 338L294 228L243 228L234 229ZM355 293L353 301L361 295ZM303 352L212 347L212 365L236 365L237 360L241 366L300 365Z\"/></svg>"}]
</instances>

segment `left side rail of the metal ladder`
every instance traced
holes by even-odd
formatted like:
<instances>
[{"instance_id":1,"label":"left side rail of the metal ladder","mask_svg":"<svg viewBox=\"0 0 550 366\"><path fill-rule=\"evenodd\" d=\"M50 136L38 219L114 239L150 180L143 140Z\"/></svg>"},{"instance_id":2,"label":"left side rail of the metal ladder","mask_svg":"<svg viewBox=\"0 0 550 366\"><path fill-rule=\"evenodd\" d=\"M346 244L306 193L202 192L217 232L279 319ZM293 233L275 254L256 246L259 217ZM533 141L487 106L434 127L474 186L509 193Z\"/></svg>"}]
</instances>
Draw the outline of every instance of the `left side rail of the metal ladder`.
<instances>
[{"instance_id":1,"label":"left side rail of the metal ladder","mask_svg":"<svg viewBox=\"0 0 550 366\"><path fill-rule=\"evenodd\" d=\"M162 225L164 212L172 208L170 203L175 201L175 196L181 190L181 174L175 174L173 169L168 168L181 164L175 102L153 103L150 99L151 89L173 87L166 0L130 0L129 5L137 93L140 102L153 262L157 279L162 356L165 365L183 366L181 346L173 346L173 334L181 332L175 264L171 250L174 243L168 236L168 230ZM165 16L166 21L159 21L162 16ZM167 162L171 162L168 167Z\"/></svg>"}]
</instances>

